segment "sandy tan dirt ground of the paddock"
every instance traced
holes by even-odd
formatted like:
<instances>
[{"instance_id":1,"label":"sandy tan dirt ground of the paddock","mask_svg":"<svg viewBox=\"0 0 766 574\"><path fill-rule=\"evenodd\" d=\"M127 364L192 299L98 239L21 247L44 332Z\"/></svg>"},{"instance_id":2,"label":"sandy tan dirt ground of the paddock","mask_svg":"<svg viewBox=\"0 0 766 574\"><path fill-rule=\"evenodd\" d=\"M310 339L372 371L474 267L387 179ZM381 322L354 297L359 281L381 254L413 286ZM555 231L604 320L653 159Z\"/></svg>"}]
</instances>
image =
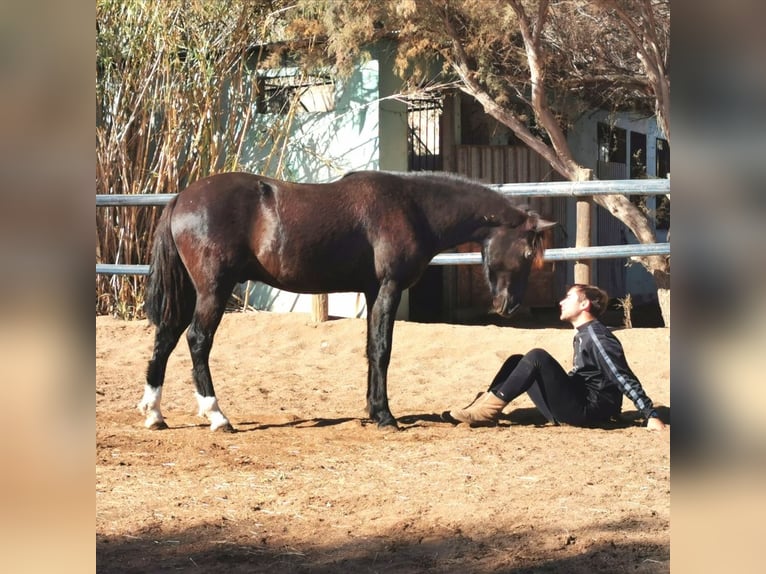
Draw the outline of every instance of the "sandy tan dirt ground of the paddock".
<instances>
[{"instance_id":1,"label":"sandy tan dirt ground of the paddock","mask_svg":"<svg viewBox=\"0 0 766 574\"><path fill-rule=\"evenodd\" d=\"M546 425L522 397L493 428L440 413L511 352L571 365L573 332L397 322L384 432L364 414L365 322L227 314L211 369L237 431L196 416L185 340L143 428L153 329L96 318L99 572L669 572L670 432L633 404L608 430ZM670 330L617 332L670 416Z\"/></svg>"}]
</instances>

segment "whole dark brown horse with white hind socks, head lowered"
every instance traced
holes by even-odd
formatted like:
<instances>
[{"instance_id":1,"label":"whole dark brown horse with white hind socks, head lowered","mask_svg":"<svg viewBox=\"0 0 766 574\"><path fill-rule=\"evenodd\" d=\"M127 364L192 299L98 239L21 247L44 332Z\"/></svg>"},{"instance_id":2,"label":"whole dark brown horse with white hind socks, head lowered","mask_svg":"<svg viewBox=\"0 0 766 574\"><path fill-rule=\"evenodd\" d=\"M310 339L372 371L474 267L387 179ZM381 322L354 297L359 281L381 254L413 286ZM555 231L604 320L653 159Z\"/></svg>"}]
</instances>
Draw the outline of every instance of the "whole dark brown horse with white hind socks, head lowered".
<instances>
[{"instance_id":1,"label":"whole dark brown horse with white hind socks, head lowered","mask_svg":"<svg viewBox=\"0 0 766 574\"><path fill-rule=\"evenodd\" d=\"M510 316L551 225L451 175L367 171L327 184L246 173L200 180L170 201L154 237L145 310L156 333L138 405L145 424L167 427L160 410L165 369L188 327L199 414L211 430L232 430L208 357L234 286L250 279L296 293L364 293L367 412L379 426L396 427L386 377L402 291L440 251L479 242L494 310Z\"/></svg>"}]
</instances>

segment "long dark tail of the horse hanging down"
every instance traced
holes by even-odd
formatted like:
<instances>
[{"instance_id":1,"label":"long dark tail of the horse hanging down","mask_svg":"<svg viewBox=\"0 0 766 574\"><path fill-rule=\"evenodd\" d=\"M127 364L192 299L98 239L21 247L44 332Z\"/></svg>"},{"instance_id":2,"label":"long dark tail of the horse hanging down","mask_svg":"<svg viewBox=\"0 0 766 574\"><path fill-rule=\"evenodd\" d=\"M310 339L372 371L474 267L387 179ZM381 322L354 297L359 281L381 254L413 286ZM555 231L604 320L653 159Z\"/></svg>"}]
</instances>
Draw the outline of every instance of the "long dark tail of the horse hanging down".
<instances>
[{"instance_id":1,"label":"long dark tail of the horse hanging down","mask_svg":"<svg viewBox=\"0 0 766 574\"><path fill-rule=\"evenodd\" d=\"M193 303L194 286L170 229L176 197L167 204L154 233L152 260L146 282L144 311L154 325L180 325Z\"/></svg>"}]
</instances>

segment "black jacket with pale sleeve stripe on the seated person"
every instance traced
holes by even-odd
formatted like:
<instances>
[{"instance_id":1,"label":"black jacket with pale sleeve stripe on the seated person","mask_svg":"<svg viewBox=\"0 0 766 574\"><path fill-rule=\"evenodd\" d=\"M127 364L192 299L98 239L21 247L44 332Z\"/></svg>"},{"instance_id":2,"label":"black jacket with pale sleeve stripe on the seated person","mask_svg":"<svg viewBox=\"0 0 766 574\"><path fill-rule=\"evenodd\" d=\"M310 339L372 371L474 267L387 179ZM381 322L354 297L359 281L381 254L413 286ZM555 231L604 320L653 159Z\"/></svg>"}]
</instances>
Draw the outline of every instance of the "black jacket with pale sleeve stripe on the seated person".
<instances>
[{"instance_id":1,"label":"black jacket with pale sleeve stripe on the seated person","mask_svg":"<svg viewBox=\"0 0 766 574\"><path fill-rule=\"evenodd\" d=\"M601 321L577 328L573 365L570 375L581 377L588 390L589 417L608 419L619 414L623 395L644 418L657 416L652 400L625 360L622 344Z\"/></svg>"}]
</instances>

